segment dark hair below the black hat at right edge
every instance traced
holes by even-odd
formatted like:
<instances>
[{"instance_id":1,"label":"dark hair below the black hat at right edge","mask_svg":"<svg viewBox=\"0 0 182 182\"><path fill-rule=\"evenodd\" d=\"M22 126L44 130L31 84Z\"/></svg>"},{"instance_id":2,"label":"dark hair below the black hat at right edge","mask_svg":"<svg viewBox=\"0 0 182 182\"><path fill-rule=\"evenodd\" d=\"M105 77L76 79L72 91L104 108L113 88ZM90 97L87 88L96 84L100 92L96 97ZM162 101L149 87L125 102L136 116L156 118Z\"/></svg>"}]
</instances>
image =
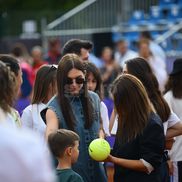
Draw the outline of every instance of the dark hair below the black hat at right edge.
<instances>
[{"instance_id":1,"label":"dark hair below the black hat at right edge","mask_svg":"<svg viewBox=\"0 0 182 182\"><path fill-rule=\"evenodd\" d=\"M165 87L165 93L172 91L175 98L182 98L182 72L169 76L169 80Z\"/></svg>"}]
</instances>

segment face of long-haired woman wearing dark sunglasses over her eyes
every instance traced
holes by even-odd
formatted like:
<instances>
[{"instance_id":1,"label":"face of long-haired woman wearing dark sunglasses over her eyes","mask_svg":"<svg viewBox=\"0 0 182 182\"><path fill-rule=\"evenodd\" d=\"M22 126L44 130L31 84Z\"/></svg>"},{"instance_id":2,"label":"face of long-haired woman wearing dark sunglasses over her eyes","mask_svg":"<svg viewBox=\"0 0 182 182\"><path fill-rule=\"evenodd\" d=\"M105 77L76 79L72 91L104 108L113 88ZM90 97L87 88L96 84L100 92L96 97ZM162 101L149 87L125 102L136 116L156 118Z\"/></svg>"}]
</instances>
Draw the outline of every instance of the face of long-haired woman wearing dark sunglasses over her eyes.
<instances>
[{"instance_id":1,"label":"face of long-haired woman wearing dark sunglasses over her eyes","mask_svg":"<svg viewBox=\"0 0 182 182\"><path fill-rule=\"evenodd\" d=\"M85 75L81 70L76 68L71 69L67 75L66 91L71 95L78 95L83 83L85 81Z\"/></svg>"}]
</instances>

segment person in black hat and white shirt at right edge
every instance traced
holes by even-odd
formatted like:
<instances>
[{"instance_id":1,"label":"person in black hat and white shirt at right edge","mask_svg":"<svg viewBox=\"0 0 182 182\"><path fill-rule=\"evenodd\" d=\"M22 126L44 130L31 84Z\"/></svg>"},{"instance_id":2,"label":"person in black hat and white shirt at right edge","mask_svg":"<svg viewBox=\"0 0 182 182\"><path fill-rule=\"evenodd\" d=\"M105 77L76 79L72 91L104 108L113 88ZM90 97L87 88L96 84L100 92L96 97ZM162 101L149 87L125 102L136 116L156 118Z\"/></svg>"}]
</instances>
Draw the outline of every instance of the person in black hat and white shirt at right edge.
<instances>
[{"instance_id":1,"label":"person in black hat and white shirt at right edge","mask_svg":"<svg viewBox=\"0 0 182 182\"><path fill-rule=\"evenodd\" d=\"M182 121L182 59L176 59L173 70L166 85L164 98L170 108ZM170 158L173 161L173 181L182 180L182 136L178 136L170 150Z\"/></svg>"}]
</instances>

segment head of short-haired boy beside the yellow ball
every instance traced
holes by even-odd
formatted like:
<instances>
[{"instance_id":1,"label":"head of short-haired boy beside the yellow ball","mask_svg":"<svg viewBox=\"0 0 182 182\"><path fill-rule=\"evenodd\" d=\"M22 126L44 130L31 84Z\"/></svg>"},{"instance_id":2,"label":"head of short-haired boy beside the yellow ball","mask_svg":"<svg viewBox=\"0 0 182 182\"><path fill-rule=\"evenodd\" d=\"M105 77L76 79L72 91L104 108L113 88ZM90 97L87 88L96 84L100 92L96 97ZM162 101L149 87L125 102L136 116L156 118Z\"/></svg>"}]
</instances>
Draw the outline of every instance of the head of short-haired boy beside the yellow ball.
<instances>
[{"instance_id":1,"label":"head of short-haired boy beside the yellow ball","mask_svg":"<svg viewBox=\"0 0 182 182\"><path fill-rule=\"evenodd\" d=\"M77 161L79 155L79 139L75 132L59 129L49 135L48 143L52 154L56 158L70 157L73 164Z\"/></svg>"}]
</instances>

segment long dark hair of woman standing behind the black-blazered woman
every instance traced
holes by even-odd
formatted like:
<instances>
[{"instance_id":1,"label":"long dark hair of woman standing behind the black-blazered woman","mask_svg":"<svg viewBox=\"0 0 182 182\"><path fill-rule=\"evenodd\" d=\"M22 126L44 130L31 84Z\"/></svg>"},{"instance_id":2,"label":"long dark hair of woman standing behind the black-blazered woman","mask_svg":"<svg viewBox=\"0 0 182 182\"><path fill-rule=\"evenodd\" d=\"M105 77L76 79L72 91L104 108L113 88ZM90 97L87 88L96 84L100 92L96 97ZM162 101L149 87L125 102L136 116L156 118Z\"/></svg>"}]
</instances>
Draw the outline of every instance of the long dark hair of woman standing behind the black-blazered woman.
<instances>
[{"instance_id":1,"label":"long dark hair of woman standing behind the black-blazered woman","mask_svg":"<svg viewBox=\"0 0 182 182\"><path fill-rule=\"evenodd\" d=\"M170 108L159 90L159 83L147 61L141 57L126 62L129 74L136 76L144 85L150 101L162 122L166 122L170 115Z\"/></svg>"}]
</instances>

